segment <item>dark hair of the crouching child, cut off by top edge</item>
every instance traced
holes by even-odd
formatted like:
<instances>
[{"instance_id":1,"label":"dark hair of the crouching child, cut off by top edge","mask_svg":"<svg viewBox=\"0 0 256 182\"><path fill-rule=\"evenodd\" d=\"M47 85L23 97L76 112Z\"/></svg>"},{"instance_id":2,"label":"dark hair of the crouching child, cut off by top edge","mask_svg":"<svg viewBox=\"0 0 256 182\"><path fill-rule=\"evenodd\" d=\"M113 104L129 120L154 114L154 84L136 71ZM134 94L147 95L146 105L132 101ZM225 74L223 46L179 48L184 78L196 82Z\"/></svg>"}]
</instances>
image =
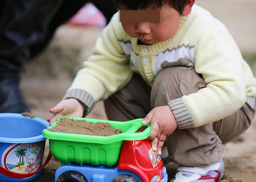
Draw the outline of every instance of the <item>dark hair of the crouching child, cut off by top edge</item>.
<instances>
[{"instance_id":1,"label":"dark hair of the crouching child, cut off by top edge","mask_svg":"<svg viewBox=\"0 0 256 182\"><path fill-rule=\"evenodd\" d=\"M145 10L149 6L153 9L161 8L164 4L177 10L182 14L188 0L114 0L116 6L122 6L125 10Z\"/></svg>"}]
</instances>

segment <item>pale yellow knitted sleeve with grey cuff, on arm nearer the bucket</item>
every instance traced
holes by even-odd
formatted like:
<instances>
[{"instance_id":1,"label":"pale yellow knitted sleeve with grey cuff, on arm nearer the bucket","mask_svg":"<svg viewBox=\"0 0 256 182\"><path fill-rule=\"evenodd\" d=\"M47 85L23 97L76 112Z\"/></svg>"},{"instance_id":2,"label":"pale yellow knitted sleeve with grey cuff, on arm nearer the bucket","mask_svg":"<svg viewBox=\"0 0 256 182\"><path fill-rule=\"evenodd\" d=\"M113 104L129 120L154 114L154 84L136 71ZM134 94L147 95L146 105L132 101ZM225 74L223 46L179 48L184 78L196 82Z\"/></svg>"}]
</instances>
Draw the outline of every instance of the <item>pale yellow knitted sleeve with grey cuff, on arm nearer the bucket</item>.
<instances>
[{"instance_id":1,"label":"pale yellow knitted sleeve with grey cuff, on arm nearer the bucket","mask_svg":"<svg viewBox=\"0 0 256 182\"><path fill-rule=\"evenodd\" d=\"M116 14L102 31L93 55L84 62L84 68L78 72L64 99L80 100L89 112L96 102L106 99L128 83L132 78L132 70L118 42L123 32Z\"/></svg>"}]
</instances>

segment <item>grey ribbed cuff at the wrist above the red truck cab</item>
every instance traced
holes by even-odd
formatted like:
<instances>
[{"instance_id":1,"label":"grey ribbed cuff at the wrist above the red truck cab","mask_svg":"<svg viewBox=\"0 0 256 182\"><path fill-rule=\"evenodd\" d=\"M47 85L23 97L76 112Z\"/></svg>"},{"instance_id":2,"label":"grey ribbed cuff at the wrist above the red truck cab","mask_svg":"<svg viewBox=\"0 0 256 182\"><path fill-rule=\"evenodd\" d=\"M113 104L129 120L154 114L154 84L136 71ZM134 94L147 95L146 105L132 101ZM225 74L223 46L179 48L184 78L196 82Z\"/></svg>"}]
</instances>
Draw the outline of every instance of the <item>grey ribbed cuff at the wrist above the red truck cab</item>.
<instances>
[{"instance_id":1,"label":"grey ribbed cuff at the wrist above the red truck cab","mask_svg":"<svg viewBox=\"0 0 256 182\"><path fill-rule=\"evenodd\" d=\"M189 129L194 128L193 118L188 111L188 107L182 98L177 98L168 102L168 106L172 110L178 129Z\"/></svg>"}]
</instances>

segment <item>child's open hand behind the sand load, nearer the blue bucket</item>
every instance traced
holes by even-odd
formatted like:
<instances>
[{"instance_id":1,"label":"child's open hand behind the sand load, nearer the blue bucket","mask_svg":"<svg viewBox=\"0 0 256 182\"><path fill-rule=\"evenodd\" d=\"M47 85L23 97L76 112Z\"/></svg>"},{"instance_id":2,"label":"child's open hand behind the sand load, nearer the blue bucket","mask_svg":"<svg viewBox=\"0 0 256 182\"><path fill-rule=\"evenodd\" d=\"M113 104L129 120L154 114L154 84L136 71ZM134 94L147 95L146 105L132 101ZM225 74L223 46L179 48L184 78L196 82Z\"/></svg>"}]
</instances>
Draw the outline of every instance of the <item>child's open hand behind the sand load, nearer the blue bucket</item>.
<instances>
[{"instance_id":1,"label":"child's open hand behind the sand load, nearer the blue bucket","mask_svg":"<svg viewBox=\"0 0 256 182\"><path fill-rule=\"evenodd\" d=\"M82 117L84 113L84 107L74 98L69 98L60 101L54 108L49 110L52 115L50 119L50 125L56 121L58 117L72 116Z\"/></svg>"}]
</instances>

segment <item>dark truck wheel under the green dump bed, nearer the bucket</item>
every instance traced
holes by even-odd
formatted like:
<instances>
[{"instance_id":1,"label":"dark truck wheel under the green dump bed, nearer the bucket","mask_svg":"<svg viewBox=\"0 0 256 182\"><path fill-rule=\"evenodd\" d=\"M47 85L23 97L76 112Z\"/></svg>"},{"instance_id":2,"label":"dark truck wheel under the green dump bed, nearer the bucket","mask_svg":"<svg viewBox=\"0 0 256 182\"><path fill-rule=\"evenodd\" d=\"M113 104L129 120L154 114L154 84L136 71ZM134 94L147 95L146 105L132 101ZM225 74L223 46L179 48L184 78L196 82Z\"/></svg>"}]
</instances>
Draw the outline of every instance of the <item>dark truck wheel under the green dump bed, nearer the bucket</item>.
<instances>
[{"instance_id":1,"label":"dark truck wheel under the green dump bed, nearer the bucket","mask_svg":"<svg viewBox=\"0 0 256 182\"><path fill-rule=\"evenodd\" d=\"M60 174L57 182L88 182L88 180L82 173L69 170Z\"/></svg>"}]
</instances>

